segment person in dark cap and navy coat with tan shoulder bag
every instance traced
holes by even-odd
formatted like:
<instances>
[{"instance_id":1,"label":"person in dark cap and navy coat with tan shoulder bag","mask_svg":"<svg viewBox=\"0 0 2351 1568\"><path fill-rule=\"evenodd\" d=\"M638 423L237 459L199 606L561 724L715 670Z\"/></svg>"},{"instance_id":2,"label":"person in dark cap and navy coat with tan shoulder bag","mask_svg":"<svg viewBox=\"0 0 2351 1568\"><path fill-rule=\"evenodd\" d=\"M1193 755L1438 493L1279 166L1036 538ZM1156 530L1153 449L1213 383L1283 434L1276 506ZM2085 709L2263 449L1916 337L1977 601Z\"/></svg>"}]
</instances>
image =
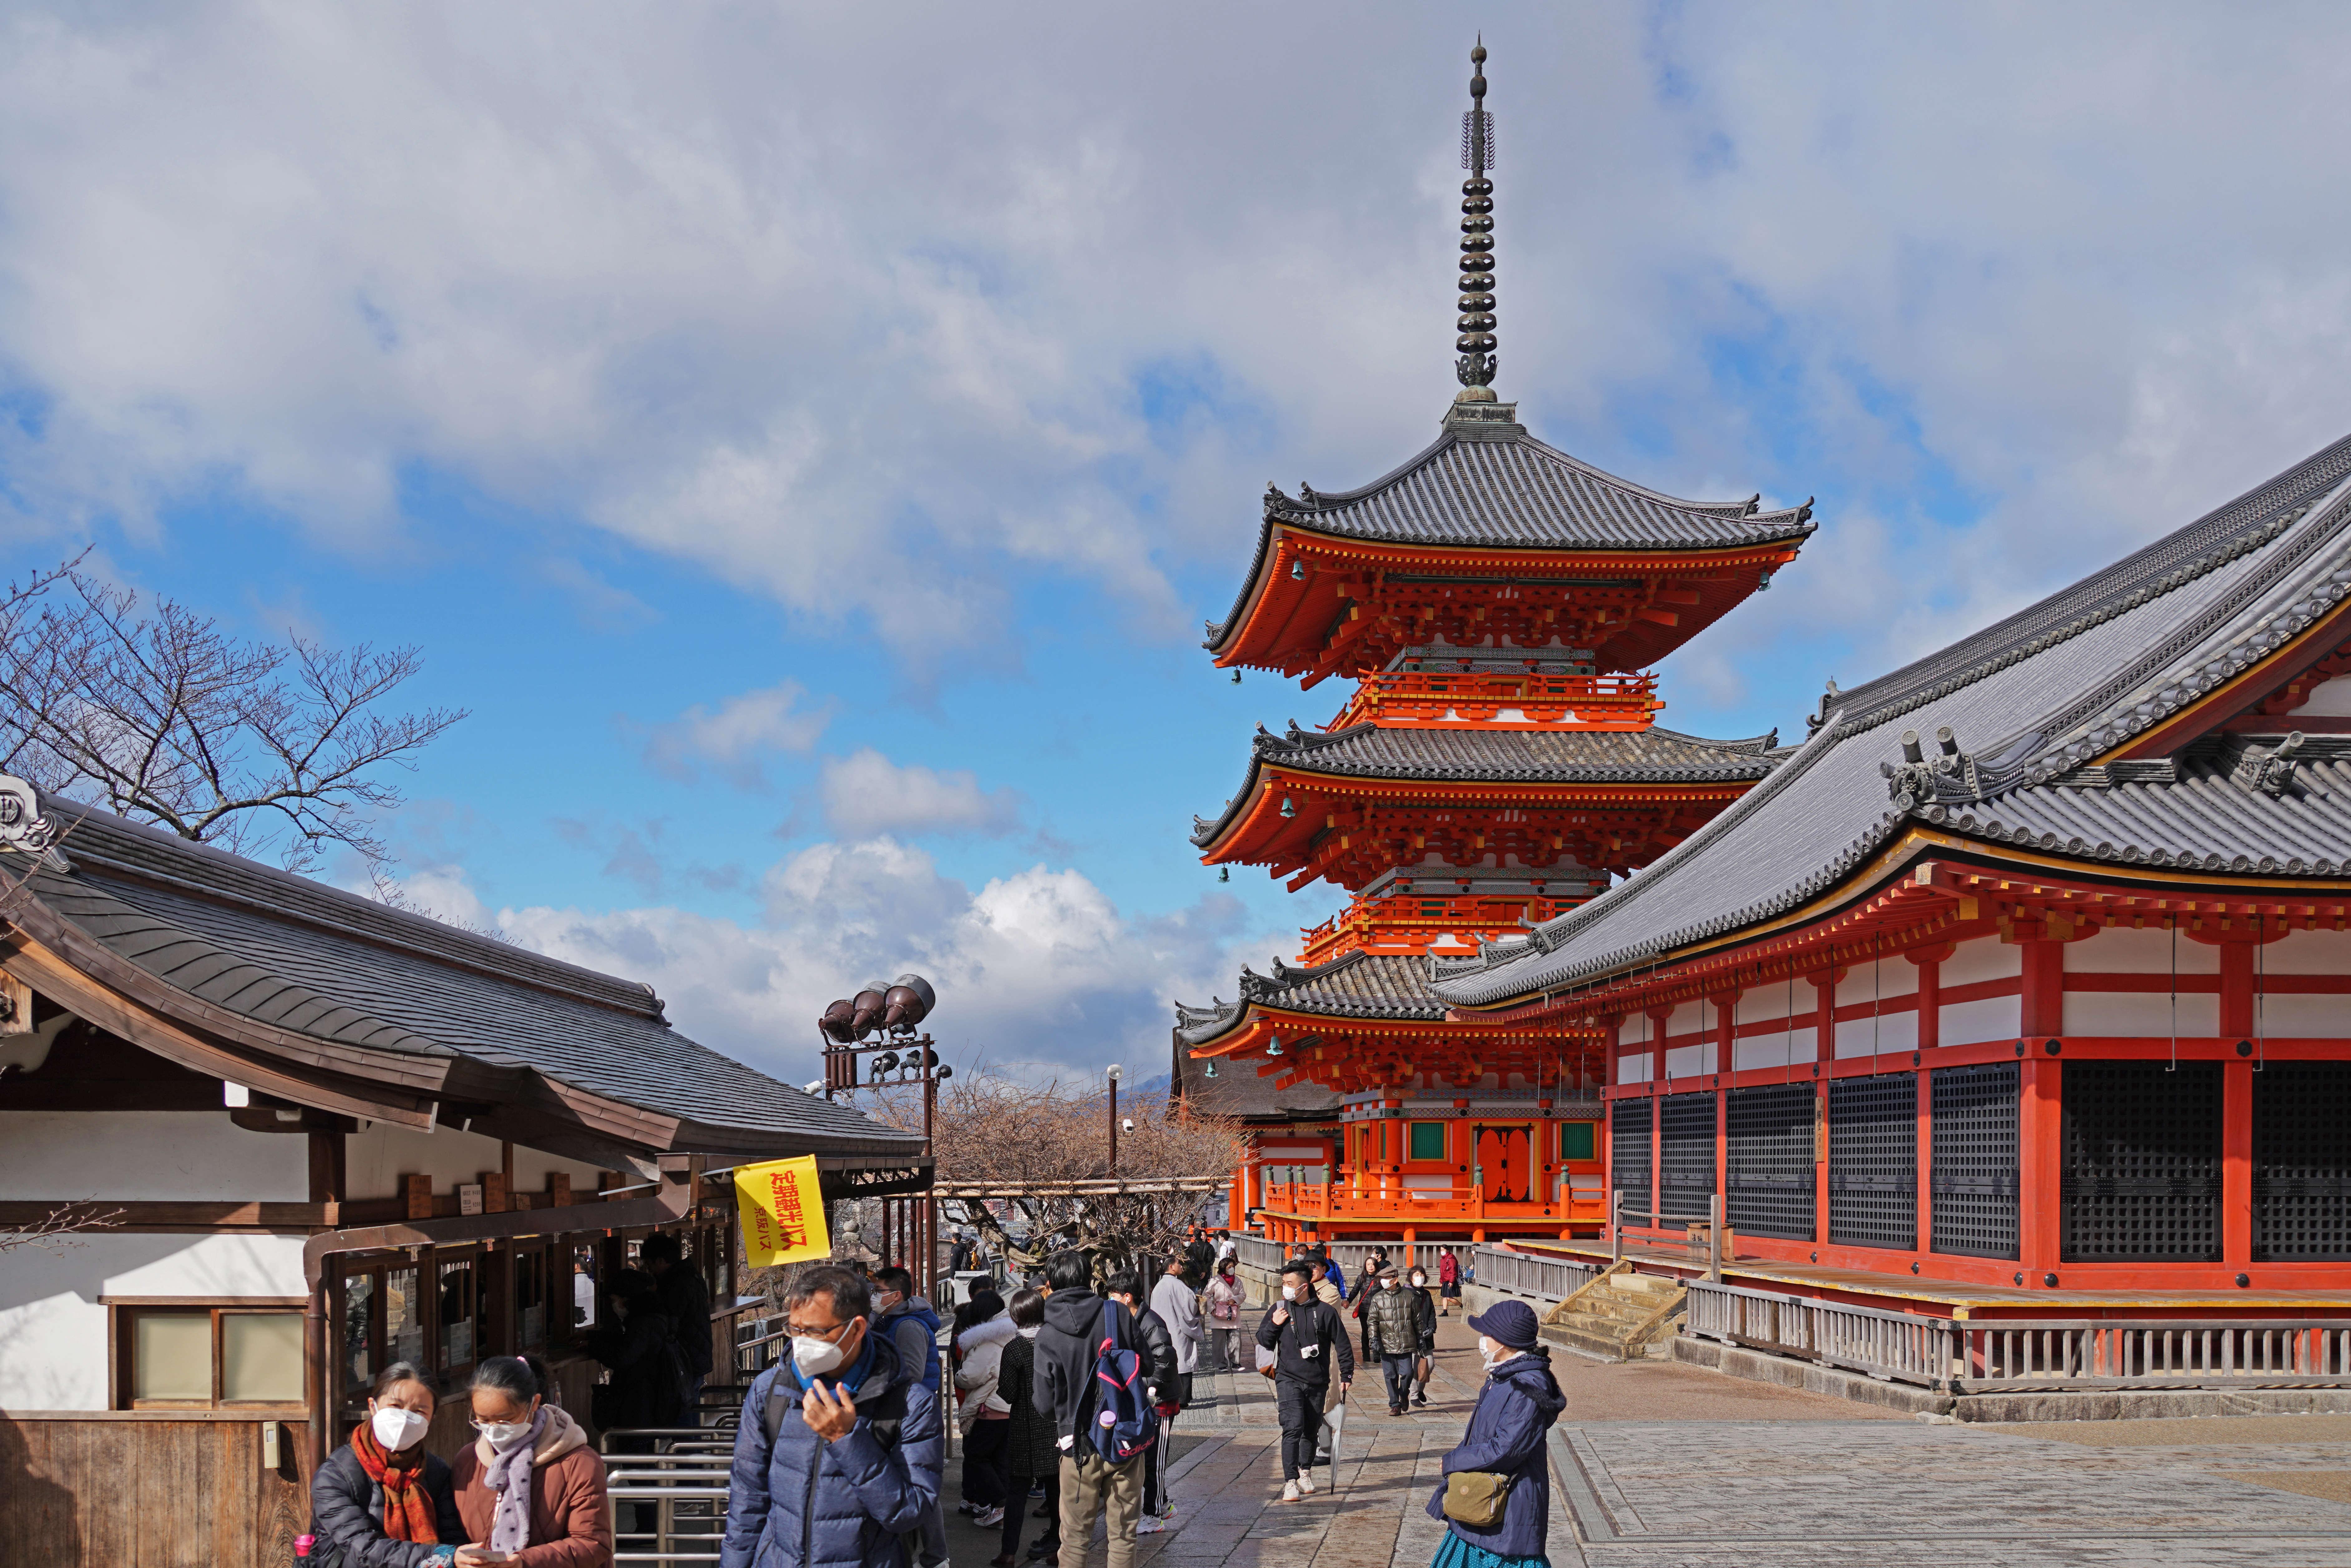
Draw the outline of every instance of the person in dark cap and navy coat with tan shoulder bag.
<instances>
[{"instance_id":1,"label":"person in dark cap and navy coat with tan shoulder bag","mask_svg":"<svg viewBox=\"0 0 2351 1568\"><path fill-rule=\"evenodd\" d=\"M1491 1530L1479 1530L1460 1519L1446 1516L1446 1488L1429 1497L1429 1519L1444 1519L1446 1540L1429 1561L1429 1568L1491 1568L1495 1559L1507 1563L1542 1561L1545 1537L1552 1530L1552 1469L1545 1455L1545 1436L1559 1413L1568 1408L1559 1380L1552 1378L1552 1356L1535 1340L1535 1309L1521 1300L1500 1300L1483 1314L1472 1316L1476 1328L1476 1354L1486 1363L1486 1387L1479 1389L1476 1408L1469 1413L1469 1429L1460 1446L1446 1455L1444 1474L1458 1469L1483 1469L1512 1476L1509 1500L1502 1519Z\"/></svg>"}]
</instances>

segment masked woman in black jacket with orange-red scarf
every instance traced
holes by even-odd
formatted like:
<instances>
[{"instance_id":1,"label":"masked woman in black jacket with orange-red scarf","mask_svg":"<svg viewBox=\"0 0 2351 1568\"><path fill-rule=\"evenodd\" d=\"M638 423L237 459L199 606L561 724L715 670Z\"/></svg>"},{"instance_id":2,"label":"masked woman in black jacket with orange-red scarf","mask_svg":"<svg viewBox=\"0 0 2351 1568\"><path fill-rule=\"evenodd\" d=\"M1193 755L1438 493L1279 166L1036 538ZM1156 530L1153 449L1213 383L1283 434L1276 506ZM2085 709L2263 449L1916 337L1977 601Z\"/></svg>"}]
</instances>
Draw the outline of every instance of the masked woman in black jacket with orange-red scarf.
<instances>
[{"instance_id":1,"label":"masked woman in black jacket with orange-red scarf","mask_svg":"<svg viewBox=\"0 0 2351 1568\"><path fill-rule=\"evenodd\" d=\"M376 1378L367 1420L310 1476L310 1556L341 1568L440 1568L456 1561L465 1526L449 1467L423 1450L433 1387L407 1361Z\"/></svg>"}]
</instances>

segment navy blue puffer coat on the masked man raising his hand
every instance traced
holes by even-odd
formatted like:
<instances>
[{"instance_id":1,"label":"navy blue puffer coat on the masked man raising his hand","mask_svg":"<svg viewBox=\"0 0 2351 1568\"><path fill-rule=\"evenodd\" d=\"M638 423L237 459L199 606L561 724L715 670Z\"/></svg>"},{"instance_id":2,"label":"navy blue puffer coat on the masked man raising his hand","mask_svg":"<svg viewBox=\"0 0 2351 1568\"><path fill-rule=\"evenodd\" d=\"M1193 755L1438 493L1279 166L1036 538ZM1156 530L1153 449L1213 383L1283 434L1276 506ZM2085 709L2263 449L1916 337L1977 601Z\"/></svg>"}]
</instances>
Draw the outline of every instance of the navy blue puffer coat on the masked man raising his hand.
<instances>
[{"instance_id":1,"label":"navy blue puffer coat on the masked man raising his hand","mask_svg":"<svg viewBox=\"0 0 2351 1568\"><path fill-rule=\"evenodd\" d=\"M764 1371L743 1401L734 1476L726 1483L726 1537L719 1568L896 1568L907 1530L938 1500L945 1425L938 1394L905 1368L886 1335L842 1382L856 1380L858 1425L828 1443L799 1415L806 1385L790 1356ZM785 1394L769 1441L769 1392ZM832 1382L830 1378L825 1382ZM903 1410L903 1415L898 1415ZM898 1420L886 1441L875 1420Z\"/></svg>"}]
</instances>

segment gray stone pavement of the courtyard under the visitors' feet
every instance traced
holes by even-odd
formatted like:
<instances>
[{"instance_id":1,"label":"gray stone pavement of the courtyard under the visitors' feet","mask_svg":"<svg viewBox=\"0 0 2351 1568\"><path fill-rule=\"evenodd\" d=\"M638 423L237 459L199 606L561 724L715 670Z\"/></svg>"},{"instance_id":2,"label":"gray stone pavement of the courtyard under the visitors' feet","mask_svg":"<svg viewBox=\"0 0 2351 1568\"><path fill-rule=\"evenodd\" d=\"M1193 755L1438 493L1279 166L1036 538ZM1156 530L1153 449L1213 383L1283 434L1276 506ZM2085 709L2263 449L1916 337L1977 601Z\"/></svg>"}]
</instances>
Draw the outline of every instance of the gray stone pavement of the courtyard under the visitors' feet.
<instances>
[{"instance_id":1,"label":"gray stone pavement of the courtyard under the visitors' feet","mask_svg":"<svg viewBox=\"0 0 2351 1568\"><path fill-rule=\"evenodd\" d=\"M2351 1418L2050 1427L1928 1425L1669 1363L1554 1352L1554 1568L2351 1568ZM1474 1335L1441 1324L1429 1408L1389 1418L1359 1375L1338 1486L1277 1502L1279 1429L1255 1373L1197 1378L1176 1422L1178 1516L1138 1540L1164 1568L1422 1568L1422 1509L1479 1385ZM950 1490L957 1467L950 1465ZM1041 1521L1030 1521L1032 1540ZM994 1533L950 1526L957 1568ZM1096 1568L1063 1552L1063 1568Z\"/></svg>"}]
</instances>

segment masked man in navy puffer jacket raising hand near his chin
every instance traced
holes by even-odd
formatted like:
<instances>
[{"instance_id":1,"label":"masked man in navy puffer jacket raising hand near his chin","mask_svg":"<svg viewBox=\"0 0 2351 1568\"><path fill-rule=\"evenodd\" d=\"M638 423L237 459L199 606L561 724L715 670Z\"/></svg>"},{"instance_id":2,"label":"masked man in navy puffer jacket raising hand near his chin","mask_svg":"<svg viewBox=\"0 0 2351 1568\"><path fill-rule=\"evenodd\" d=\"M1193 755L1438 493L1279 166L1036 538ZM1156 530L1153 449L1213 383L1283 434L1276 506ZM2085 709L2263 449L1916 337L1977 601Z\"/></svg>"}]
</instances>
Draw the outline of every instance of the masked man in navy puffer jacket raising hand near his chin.
<instances>
[{"instance_id":1,"label":"masked man in navy puffer jacket raising hand near his chin","mask_svg":"<svg viewBox=\"0 0 2351 1568\"><path fill-rule=\"evenodd\" d=\"M792 1354L743 1401L719 1568L903 1568L938 1502L938 1394L868 1333L860 1274L804 1269L783 1309Z\"/></svg>"}]
</instances>

